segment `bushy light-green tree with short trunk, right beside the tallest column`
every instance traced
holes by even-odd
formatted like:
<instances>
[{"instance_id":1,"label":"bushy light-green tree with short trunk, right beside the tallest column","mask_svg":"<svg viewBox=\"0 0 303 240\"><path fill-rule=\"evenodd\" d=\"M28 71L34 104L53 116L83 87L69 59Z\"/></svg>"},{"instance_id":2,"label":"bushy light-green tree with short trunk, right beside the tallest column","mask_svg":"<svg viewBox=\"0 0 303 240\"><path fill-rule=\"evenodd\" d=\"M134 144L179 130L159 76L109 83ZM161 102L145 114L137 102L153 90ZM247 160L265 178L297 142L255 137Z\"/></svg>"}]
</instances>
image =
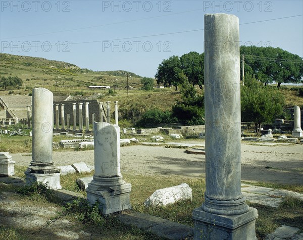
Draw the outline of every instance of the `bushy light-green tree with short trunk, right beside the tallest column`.
<instances>
[{"instance_id":1,"label":"bushy light-green tree with short trunk, right beside the tallest column","mask_svg":"<svg viewBox=\"0 0 303 240\"><path fill-rule=\"evenodd\" d=\"M255 123L257 134L262 123L273 122L282 113L284 104L278 89L262 86L255 79L241 87L241 121Z\"/></svg>"}]
</instances>

